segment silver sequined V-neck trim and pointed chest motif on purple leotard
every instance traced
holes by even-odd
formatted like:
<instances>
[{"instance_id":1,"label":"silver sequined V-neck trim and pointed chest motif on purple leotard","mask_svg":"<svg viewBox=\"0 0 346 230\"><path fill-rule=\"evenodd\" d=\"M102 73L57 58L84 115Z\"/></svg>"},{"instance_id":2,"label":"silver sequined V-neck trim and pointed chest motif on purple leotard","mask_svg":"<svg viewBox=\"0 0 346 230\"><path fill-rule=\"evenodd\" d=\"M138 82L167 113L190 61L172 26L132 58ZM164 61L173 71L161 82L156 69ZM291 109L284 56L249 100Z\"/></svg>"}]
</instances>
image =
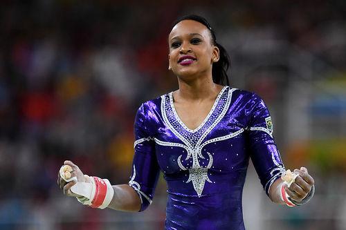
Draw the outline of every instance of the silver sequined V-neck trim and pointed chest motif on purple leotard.
<instances>
[{"instance_id":1,"label":"silver sequined V-neck trim and pointed chest motif on purple leotard","mask_svg":"<svg viewBox=\"0 0 346 230\"><path fill-rule=\"evenodd\" d=\"M172 142L161 142L157 139L155 140L155 142L157 144L165 146L179 146L186 149L187 155L185 157L185 160L189 160L192 157L192 166L189 166L189 164L187 164L187 166L183 166L183 163L181 162L181 157L183 155L179 155L177 164L180 169L189 171L189 178L185 183L192 182L194 190L197 192L197 195L199 197L203 192L204 184L206 183L206 181L212 183L210 178L208 178L208 169L212 167L213 162L212 155L207 152L209 157L208 166L201 166L199 164L199 157L205 159L201 152L203 146L206 146L206 144L210 144L212 142L226 140L228 138L234 137L235 135L239 135L239 133L242 133L244 131L243 129L241 129L235 133L231 133L230 135L217 137L202 144L208 133L210 133L210 131L215 128L215 126L221 121L221 119L228 111L230 101L232 99L232 93L234 90L236 90L236 88L230 89L228 86L222 88L221 92L217 96L217 99L215 100L214 105L212 106L212 109L210 110L210 113L208 113L206 119L204 119L202 124L194 130L191 130L190 128L185 126L185 124L183 124L178 114L176 113L173 104L172 93L163 95L161 97L161 113L163 115L163 120L165 124L170 128L172 133L174 133L174 135L176 135L176 137L178 137L179 140L181 140L185 145Z\"/></svg>"}]
</instances>

